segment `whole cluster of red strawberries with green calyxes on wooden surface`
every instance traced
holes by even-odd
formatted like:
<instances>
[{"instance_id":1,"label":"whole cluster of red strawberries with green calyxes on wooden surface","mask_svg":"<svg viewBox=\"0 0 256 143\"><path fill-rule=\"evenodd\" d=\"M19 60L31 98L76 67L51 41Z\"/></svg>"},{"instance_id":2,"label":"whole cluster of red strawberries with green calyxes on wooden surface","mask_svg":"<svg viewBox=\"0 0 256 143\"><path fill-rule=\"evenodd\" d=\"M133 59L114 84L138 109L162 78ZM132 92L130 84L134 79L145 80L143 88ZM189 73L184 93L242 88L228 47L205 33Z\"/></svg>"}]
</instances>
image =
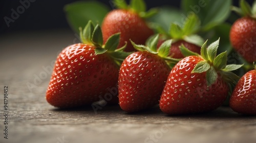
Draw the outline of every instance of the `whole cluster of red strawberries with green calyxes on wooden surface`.
<instances>
[{"instance_id":1,"label":"whole cluster of red strawberries with green calyxes on wooden surface","mask_svg":"<svg viewBox=\"0 0 256 143\"><path fill-rule=\"evenodd\" d=\"M169 115L211 111L228 95L230 107L256 115L256 70L241 78L231 71L243 65L227 65L227 53L217 55L220 39L191 40L198 17L191 14L183 27L172 24L170 33L154 34L145 17L143 1L105 16L101 27L89 21L80 29L81 42L65 48L57 57L46 93L47 101L59 108L92 104L118 88L107 102L127 112L159 104ZM245 1L245 16L233 23L230 42L234 49L247 49L244 59L256 61L255 14ZM139 8L142 7L143 9ZM195 42L196 41L196 42Z\"/></svg>"}]
</instances>

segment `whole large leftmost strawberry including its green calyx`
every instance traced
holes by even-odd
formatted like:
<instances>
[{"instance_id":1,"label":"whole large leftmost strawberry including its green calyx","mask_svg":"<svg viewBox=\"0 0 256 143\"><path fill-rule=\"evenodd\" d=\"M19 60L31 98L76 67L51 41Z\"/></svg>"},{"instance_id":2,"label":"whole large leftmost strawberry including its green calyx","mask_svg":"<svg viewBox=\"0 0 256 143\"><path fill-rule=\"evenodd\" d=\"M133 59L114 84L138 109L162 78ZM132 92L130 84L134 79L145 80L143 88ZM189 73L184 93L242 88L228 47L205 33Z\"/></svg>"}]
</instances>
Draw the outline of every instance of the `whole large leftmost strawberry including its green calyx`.
<instances>
[{"instance_id":1,"label":"whole large leftmost strawberry including its green calyx","mask_svg":"<svg viewBox=\"0 0 256 143\"><path fill-rule=\"evenodd\" d=\"M46 100L53 106L70 108L91 104L105 99L105 94L117 85L117 62L121 62L121 54L126 54L115 50L120 34L102 45L100 27L89 21L80 35L83 43L68 46L57 56L46 92ZM112 95L112 99L116 96Z\"/></svg>"}]
</instances>

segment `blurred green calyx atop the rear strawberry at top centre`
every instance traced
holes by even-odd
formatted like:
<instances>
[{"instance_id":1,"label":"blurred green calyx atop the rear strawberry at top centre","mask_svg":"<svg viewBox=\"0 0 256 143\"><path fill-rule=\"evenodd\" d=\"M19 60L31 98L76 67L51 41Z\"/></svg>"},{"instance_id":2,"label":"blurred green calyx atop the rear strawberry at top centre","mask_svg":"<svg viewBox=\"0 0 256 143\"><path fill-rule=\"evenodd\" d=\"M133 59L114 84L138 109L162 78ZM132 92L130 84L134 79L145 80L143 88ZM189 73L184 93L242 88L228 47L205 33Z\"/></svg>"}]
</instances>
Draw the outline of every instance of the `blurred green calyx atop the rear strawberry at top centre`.
<instances>
[{"instance_id":1,"label":"blurred green calyx atop the rear strawberry at top centre","mask_svg":"<svg viewBox=\"0 0 256 143\"><path fill-rule=\"evenodd\" d=\"M130 5L127 5L125 0L114 0L113 3L118 9L131 10L142 18L152 17L158 12L156 8L146 11L146 4L143 0L131 0Z\"/></svg>"}]
</instances>

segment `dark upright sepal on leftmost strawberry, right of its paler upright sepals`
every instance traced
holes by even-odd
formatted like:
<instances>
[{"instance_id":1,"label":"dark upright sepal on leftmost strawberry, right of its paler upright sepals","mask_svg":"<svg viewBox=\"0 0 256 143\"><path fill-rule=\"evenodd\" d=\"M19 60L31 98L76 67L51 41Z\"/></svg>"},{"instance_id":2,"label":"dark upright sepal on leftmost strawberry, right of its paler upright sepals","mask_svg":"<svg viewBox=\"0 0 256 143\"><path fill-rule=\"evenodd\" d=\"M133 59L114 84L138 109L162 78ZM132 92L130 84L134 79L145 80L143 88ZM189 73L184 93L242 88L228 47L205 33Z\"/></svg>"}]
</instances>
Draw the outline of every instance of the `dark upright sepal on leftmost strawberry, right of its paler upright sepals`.
<instances>
[{"instance_id":1,"label":"dark upright sepal on leftmost strawberry, right of its paler upright sepals","mask_svg":"<svg viewBox=\"0 0 256 143\"><path fill-rule=\"evenodd\" d=\"M93 31L92 42L96 47L102 47L103 37L100 26L97 24Z\"/></svg>"}]
</instances>

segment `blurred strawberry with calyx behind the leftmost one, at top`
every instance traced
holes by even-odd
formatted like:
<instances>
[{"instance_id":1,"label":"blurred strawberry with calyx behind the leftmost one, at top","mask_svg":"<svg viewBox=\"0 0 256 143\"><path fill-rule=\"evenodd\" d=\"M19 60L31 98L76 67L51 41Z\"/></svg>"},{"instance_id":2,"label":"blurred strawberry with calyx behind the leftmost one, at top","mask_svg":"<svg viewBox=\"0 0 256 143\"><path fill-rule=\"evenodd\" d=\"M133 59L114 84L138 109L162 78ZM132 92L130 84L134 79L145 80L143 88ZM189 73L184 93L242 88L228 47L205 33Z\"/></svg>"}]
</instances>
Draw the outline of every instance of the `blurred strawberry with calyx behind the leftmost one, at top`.
<instances>
[{"instance_id":1,"label":"blurred strawberry with calyx behind the leftmost one, at top","mask_svg":"<svg viewBox=\"0 0 256 143\"><path fill-rule=\"evenodd\" d=\"M147 38L154 34L142 18L146 17L145 4L142 0L133 0L129 7L124 1L114 2L120 9L109 12L103 19L103 41L105 43L111 35L121 33L118 48L127 42L125 51L134 51L130 39L137 44L145 44Z\"/></svg>"}]
</instances>

